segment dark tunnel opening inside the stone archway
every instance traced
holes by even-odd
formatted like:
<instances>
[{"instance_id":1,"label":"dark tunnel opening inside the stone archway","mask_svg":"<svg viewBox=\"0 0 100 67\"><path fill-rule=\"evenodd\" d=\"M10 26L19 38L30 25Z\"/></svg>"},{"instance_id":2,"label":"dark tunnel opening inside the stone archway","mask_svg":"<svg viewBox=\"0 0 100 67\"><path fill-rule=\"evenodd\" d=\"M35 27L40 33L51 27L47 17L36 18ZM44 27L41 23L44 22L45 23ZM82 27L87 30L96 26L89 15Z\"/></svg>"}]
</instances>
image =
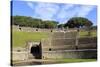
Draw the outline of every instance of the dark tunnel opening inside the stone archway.
<instances>
[{"instance_id":1,"label":"dark tunnel opening inside the stone archway","mask_svg":"<svg viewBox=\"0 0 100 67\"><path fill-rule=\"evenodd\" d=\"M41 45L32 46L30 53L34 56L35 59L41 59L42 58Z\"/></svg>"}]
</instances>

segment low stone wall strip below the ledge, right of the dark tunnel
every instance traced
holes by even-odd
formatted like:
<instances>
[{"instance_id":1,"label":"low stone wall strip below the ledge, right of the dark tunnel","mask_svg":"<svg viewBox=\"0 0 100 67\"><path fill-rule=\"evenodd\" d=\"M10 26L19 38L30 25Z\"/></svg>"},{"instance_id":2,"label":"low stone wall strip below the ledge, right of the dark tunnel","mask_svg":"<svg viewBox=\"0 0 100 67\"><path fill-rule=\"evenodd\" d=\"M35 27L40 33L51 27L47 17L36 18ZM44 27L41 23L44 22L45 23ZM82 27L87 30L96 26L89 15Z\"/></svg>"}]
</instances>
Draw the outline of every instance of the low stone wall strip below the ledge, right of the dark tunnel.
<instances>
[{"instance_id":1,"label":"low stone wall strip below the ledge, right of the dark tunnel","mask_svg":"<svg viewBox=\"0 0 100 67\"><path fill-rule=\"evenodd\" d=\"M44 51L43 59L93 59L97 58L96 50L66 50L66 51Z\"/></svg>"}]
</instances>

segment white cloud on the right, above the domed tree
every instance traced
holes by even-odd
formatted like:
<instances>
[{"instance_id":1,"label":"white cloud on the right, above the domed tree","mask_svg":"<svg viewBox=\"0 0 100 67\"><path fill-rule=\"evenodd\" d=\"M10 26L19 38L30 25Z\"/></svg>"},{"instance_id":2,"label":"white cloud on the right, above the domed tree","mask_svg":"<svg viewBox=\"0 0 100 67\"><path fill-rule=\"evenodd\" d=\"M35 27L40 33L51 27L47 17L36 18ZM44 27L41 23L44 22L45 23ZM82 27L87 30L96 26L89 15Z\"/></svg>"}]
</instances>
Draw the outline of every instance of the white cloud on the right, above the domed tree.
<instances>
[{"instance_id":1,"label":"white cloud on the right, above the domed tree","mask_svg":"<svg viewBox=\"0 0 100 67\"><path fill-rule=\"evenodd\" d=\"M67 9L65 9L66 7ZM66 7L60 10L57 15L58 19L62 19L61 22L65 22L74 16L86 17L94 9L94 6L66 5Z\"/></svg>"}]
</instances>

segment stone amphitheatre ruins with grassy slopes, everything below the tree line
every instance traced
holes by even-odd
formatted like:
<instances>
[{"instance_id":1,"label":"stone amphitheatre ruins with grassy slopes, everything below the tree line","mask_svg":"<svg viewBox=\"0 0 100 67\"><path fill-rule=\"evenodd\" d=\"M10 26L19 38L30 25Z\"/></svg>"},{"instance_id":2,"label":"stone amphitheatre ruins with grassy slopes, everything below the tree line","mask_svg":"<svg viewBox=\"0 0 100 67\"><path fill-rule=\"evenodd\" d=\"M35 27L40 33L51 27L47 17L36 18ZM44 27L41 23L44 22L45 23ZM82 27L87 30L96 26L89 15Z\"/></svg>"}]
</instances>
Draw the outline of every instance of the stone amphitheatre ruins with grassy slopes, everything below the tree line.
<instances>
[{"instance_id":1,"label":"stone amphitheatre ruins with grassy slopes, everything below the tree line","mask_svg":"<svg viewBox=\"0 0 100 67\"><path fill-rule=\"evenodd\" d=\"M80 31L82 33L84 29ZM97 59L97 36L84 35L85 33L80 35L77 29L37 29L12 26L11 64L17 66L95 61ZM16 41L23 42L19 44Z\"/></svg>"}]
</instances>

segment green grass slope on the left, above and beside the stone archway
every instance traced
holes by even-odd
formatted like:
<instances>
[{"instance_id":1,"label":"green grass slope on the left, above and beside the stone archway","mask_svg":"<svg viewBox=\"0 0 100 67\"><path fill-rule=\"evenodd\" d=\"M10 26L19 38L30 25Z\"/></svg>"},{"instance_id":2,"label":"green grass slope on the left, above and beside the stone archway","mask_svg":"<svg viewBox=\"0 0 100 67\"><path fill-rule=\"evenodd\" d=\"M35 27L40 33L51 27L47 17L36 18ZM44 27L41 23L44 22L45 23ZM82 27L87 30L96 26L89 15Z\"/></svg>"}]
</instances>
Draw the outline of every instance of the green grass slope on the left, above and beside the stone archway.
<instances>
[{"instance_id":1,"label":"green grass slope on the left, above and beside the stone archway","mask_svg":"<svg viewBox=\"0 0 100 67\"><path fill-rule=\"evenodd\" d=\"M13 47L24 47L27 41L40 41L42 38L48 37L47 32L12 32L12 45Z\"/></svg>"}]
</instances>

